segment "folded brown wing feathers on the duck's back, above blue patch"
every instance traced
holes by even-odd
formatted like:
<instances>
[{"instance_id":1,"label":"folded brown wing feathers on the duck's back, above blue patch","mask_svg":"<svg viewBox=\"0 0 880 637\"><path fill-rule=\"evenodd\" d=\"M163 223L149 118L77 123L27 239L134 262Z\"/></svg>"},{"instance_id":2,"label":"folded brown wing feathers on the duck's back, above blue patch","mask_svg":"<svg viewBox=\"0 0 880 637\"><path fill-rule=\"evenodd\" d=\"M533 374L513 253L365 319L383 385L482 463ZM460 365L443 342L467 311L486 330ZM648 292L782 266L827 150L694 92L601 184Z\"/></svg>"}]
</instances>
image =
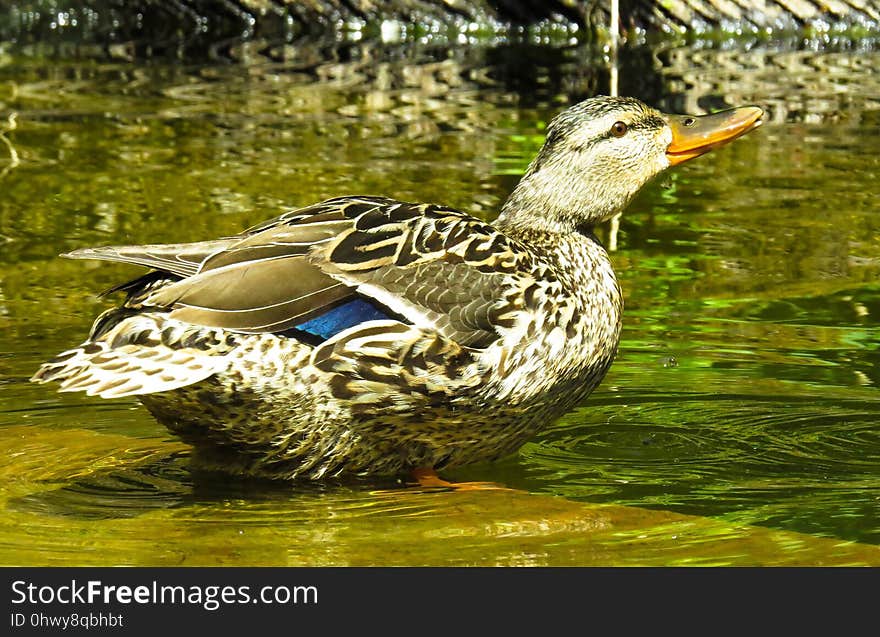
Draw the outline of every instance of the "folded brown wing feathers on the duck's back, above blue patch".
<instances>
[{"instance_id":1,"label":"folded brown wing feathers on the duck's back, above blue patch","mask_svg":"<svg viewBox=\"0 0 880 637\"><path fill-rule=\"evenodd\" d=\"M367 301L387 318L472 347L511 324L507 297L522 289L516 272L530 258L514 240L457 210L378 197L331 199L216 241L70 256L180 277L143 303L171 308L181 321L282 332Z\"/></svg>"}]
</instances>

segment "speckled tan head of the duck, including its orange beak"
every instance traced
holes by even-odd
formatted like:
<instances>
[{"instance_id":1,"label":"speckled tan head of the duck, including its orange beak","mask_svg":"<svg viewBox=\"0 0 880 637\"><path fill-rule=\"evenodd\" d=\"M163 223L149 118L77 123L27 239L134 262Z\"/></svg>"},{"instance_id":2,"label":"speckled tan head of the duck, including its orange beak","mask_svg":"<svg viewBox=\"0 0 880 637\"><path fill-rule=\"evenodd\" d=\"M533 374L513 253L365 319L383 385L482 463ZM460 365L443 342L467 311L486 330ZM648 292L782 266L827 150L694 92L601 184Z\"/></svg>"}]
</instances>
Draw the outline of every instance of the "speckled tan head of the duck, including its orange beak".
<instances>
[{"instance_id":1,"label":"speckled tan head of the duck, including its orange beak","mask_svg":"<svg viewBox=\"0 0 880 637\"><path fill-rule=\"evenodd\" d=\"M742 106L668 115L629 97L593 97L560 113L505 202L499 227L582 232L622 211L670 166L723 146L761 124Z\"/></svg>"}]
</instances>

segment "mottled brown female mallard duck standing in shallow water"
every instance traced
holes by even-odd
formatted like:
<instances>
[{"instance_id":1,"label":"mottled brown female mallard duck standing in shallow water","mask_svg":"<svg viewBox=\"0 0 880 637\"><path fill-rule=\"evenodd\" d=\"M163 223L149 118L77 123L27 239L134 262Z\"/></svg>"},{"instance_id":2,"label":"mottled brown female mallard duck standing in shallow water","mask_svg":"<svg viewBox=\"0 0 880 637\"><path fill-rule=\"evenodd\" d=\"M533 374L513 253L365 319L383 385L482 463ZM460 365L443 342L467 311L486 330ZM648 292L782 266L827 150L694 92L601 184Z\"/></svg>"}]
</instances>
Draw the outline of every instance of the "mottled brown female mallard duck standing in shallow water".
<instances>
[{"instance_id":1,"label":"mottled brown female mallard duck standing in shallow water","mask_svg":"<svg viewBox=\"0 0 880 637\"><path fill-rule=\"evenodd\" d=\"M494 223L340 197L234 237L76 250L151 268L37 382L138 396L203 463L391 474L515 451L614 358L622 300L593 227L760 108L664 115L595 97L556 117Z\"/></svg>"}]
</instances>

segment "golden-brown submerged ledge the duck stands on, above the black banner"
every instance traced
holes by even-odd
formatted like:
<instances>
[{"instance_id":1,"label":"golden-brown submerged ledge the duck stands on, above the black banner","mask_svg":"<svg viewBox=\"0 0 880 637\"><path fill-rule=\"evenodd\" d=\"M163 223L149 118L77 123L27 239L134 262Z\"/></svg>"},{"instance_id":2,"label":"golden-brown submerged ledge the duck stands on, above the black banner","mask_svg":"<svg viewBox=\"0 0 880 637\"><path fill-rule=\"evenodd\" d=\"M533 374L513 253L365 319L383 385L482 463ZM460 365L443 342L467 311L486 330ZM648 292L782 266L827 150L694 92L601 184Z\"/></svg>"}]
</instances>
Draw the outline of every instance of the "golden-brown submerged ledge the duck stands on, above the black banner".
<instances>
[{"instance_id":1,"label":"golden-brown submerged ledge the duck stands on, above the black banner","mask_svg":"<svg viewBox=\"0 0 880 637\"><path fill-rule=\"evenodd\" d=\"M2 476L4 562L880 564L880 549L870 545L666 511L509 488L449 492L387 483L229 481L189 474L179 443L80 429L10 426L5 433L4 446L14 455L58 445L65 466L53 471L43 459L31 465L39 480ZM23 438L28 442L18 442ZM506 477L517 480L515 471Z\"/></svg>"}]
</instances>

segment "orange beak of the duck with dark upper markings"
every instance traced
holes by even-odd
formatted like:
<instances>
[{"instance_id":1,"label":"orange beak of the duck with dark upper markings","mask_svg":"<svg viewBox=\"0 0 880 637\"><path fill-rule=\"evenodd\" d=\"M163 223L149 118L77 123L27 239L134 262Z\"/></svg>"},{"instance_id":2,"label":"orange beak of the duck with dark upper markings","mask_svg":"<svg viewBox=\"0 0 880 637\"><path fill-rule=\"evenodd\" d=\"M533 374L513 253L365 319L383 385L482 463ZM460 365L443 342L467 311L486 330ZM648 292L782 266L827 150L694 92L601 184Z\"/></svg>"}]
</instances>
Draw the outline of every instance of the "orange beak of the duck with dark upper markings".
<instances>
[{"instance_id":1,"label":"orange beak of the duck with dark upper markings","mask_svg":"<svg viewBox=\"0 0 880 637\"><path fill-rule=\"evenodd\" d=\"M732 142L760 126L763 116L764 111L757 106L740 106L711 115L664 115L672 129L672 143L666 149L669 165L676 166Z\"/></svg>"}]
</instances>

